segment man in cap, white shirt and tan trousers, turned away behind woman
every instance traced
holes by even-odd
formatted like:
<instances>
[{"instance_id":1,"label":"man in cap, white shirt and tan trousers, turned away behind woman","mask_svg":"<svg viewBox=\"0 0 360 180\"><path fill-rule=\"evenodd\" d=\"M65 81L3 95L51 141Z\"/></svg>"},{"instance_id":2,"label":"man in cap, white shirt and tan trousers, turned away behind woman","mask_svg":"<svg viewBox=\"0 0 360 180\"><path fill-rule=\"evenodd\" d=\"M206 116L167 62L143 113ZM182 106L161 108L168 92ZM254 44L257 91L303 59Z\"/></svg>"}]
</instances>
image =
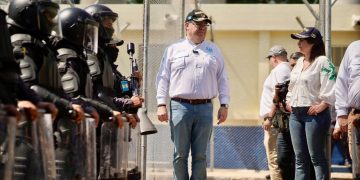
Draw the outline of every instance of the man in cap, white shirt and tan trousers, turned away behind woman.
<instances>
[{"instance_id":1,"label":"man in cap, white shirt and tan trousers, turned away behind woman","mask_svg":"<svg viewBox=\"0 0 360 180\"><path fill-rule=\"evenodd\" d=\"M273 46L267 56L273 70L266 78L260 100L260 117L264 119L264 146L270 178L272 180L282 179L277 163L277 135L278 131L271 127L271 120L275 113L273 98L275 95L275 85L283 83L290 77L291 67L287 62L287 52L279 45Z\"/></svg>"}]
</instances>

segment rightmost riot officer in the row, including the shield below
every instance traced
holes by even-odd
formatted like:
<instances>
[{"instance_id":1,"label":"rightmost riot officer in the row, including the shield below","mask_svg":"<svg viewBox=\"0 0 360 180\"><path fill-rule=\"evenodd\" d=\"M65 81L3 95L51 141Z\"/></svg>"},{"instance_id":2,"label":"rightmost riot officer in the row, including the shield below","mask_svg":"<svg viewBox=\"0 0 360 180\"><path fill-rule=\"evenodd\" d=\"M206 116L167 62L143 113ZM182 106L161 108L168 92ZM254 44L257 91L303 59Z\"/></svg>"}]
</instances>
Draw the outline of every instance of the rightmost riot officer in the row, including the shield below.
<instances>
[{"instance_id":1,"label":"rightmost riot officer in the row, including the shield below","mask_svg":"<svg viewBox=\"0 0 360 180\"><path fill-rule=\"evenodd\" d=\"M94 83L94 98L125 112L123 114L126 115L130 126L135 128L139 121L136 115L137 108L141 106L143 99L140 96L132 96L128 79L117 71L117 65L115 65L119 52L117 46L123 44L122 40L113 36L113 25L117 24L118 14L101 4L90 5L84 10L99 23L97 54L88 56L91 57L88 58L88 65ZM137 75L141 77L139 73ZM114 136L114 134L117 134L116 131L109 123L104 123L101 126L99 179L124 178L124 169L118 168L117 163L124 164L127 162L119 162L118 154L128 156L129 150L124 149L124 147L127 147L125 144L123 146L113 146L113 144L122 142L123 139L123 137ZM110 139L112 142L109 142ZM121 160L124 159L127 158L121 158ZM115 160L118 162L115 162Z\"/></svg>"}]
</instances>

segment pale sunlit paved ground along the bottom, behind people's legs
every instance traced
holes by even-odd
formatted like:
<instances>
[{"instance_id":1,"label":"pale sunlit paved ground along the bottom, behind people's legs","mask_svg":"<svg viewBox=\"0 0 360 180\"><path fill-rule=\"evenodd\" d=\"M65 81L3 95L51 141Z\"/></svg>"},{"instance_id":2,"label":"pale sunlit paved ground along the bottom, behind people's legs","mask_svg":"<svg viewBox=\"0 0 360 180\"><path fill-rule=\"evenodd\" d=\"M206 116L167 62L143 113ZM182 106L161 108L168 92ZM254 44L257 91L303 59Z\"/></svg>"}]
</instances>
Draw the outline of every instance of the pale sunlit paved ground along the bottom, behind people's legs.
<instances>
[{"instance_id":1,"label":"pale sunlit paved ground along the bottom, behind people's legs","mask_svg":"<svg viewBox=\"0 0 360 180\"><path fill-rule=\"evenodd\" d=\"M264 180L268 171L240 170L240 169L208 169L208 180ZM171 170L159 170L148 172L148 180L171 180ZM348 172L331 173L331 179L348 180L351 174Z\"/></svg>"}]
</instances>

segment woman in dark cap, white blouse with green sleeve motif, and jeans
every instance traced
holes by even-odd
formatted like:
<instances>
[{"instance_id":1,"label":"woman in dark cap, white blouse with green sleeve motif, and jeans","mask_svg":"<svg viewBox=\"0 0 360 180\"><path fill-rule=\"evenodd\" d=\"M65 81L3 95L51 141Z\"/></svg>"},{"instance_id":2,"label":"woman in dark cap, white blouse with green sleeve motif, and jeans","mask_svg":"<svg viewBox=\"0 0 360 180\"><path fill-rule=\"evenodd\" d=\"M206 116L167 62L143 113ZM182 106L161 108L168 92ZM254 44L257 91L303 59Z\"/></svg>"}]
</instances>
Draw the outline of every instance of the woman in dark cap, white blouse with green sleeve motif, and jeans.
<instances>
[{"instance_id":1,"label":"woman in dark cap, white blouse with green sleeve motif, and jeans","mask_svg":"<svg viewBox=\"0 0 360 180\"><path fill-rule=\"evenodd\" d=\"M290 134L296 157L295 179L309 178L310 161L316 179L329 179L325 141L330 128L329 106L334 104L335 66L325 56L320 32L313 27L291 34L304 57L291 71L288 105Z\"/></svg>"}]
</instances>

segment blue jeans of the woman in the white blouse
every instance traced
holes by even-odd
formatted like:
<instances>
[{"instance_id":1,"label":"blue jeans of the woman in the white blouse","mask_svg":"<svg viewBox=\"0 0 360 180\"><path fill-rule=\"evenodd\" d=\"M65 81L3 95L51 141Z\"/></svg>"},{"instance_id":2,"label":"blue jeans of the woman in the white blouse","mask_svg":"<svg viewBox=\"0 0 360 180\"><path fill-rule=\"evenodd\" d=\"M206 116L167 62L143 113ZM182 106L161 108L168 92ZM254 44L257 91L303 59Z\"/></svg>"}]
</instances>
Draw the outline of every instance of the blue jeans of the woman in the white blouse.
<instances>
[{"instance_id":1,"label":"blue jeans of the woman in the white blouse","mask_svg":"<svg viewBox=\"0 0 360 180\"><path fill-rule=\"evenodd\" d=\"M330 111L317 116L307 114L309 107L293 107L290 115L290 134L295 152L295 179L309 179L310 159L317 180L329 179L325 142L330 128Z\"/></svg>"}]
</instances>

